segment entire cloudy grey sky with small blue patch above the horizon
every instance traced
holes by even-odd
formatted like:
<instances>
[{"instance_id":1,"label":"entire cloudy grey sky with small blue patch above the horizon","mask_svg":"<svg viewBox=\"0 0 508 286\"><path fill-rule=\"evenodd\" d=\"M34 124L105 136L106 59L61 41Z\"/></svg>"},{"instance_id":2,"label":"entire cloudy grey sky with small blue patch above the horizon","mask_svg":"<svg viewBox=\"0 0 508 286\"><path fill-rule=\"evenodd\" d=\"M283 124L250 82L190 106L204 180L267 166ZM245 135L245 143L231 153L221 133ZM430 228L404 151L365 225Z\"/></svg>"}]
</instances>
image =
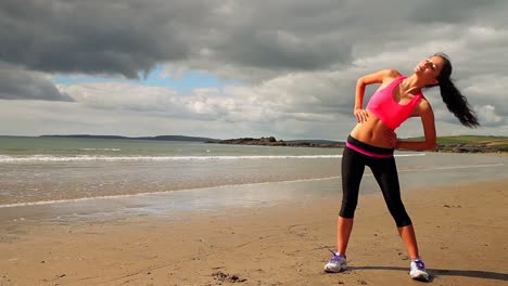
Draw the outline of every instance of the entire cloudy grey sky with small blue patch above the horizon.
<instances>
[{"instance_id":1,"label":"entire cloudy grey sky with small blue patch above the horizon","mask_svg":"<svg viewBox=\"0 0 508 286\"><path fill-rule=\"evenodd\" d=\"M0 1L0 134L344 140L358 77L445 52L482 127L428 90L439 134L508 135L507 14L505 0ZM419 119L397 131L422 134Z\"/></svg>"}]
</instances>

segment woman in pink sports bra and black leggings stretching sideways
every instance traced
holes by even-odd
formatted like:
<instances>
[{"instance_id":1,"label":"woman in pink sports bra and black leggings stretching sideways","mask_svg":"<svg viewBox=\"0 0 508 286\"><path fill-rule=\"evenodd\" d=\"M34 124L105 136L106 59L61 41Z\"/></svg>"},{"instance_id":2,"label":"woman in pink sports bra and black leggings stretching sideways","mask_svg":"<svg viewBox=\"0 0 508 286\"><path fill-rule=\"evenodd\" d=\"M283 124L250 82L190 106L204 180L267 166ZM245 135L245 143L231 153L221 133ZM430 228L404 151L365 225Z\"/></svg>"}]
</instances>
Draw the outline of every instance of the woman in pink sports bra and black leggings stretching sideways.
<instances>
[{"instance_id":1,"label":"woman in pink sports bra and black leggings stretching sideways","mask_svg":"<svg viewBox=\"0 0 508 286\"><path fill-rule=\"evenodd\" d=\"M353 217L365 166L370 167L383 193L386 206L398 227L398 233L411 258L411 278L429 281L423 261L418 252L411 220L401 199L397 169L393 153L395 148L423 151L434 150L436 133L434 114L423 96L423 88L440 87L441 95L449 112L467 127L479 126L468 101L452 82L452 64L443 54L434 54L415 67L410 77L395 69L384 69L358 79L356 84L354 115L358 121L347 138L342 156L342 208L338 219L336 252L325 265L326 272L347 269L346 248L353 229ZM381 83L363 108L365 87ZM394 130L408 117L420 117L424 141L398 141Z\"/></svg>"}]
</instances>

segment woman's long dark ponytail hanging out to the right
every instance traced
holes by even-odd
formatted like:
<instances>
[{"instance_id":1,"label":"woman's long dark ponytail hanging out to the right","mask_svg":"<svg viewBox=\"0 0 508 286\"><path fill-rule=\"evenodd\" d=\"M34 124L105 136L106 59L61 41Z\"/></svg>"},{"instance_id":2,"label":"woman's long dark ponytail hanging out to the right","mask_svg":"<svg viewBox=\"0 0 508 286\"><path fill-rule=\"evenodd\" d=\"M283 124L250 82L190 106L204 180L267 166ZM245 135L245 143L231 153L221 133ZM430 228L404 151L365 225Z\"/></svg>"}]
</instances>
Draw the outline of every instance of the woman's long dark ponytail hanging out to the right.
<instances>
[{"instance_id":1,"label":"woman's long dark ponytail hanging out to the right","mask_svg":"<svg viewBox=\"0 0 508 286\"><path fill-rule=\"evenodd\" d=\"M440 56L444 60L443 68L436 79L439 81L437 84L440 86L441 96L446 107L448 107L448 110L453 113L463 126L471 128L480 126L475 113L469 106L468 100L455 87L450 78L452 63L449 62L448 55L445 53L436 53L434 56Z\"/></svg>"}]
</instances>

